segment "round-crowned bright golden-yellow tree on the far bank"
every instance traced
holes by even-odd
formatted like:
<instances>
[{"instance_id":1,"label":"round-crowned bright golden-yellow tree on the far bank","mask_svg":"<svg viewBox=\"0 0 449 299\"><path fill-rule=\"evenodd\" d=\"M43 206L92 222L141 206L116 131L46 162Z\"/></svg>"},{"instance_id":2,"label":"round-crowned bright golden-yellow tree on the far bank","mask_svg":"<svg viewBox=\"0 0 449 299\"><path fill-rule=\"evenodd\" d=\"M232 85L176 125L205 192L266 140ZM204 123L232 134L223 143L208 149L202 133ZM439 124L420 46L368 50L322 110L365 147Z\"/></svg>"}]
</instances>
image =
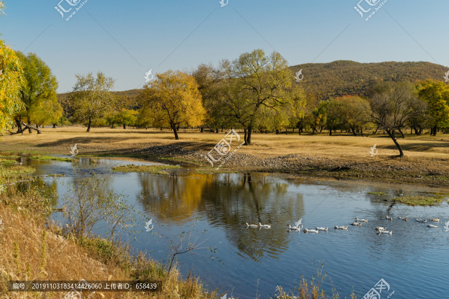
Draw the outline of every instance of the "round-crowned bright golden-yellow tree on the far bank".
<instances>
[{"instance_id":1,"label":"round-crowned bright golden-yellow tree on the far bank","mask_svg":"<svg viewBox=\"0 0 449 299\"><path fill-rule=\"evenodd\" d=\"M181 125L197 127L204 119L198 83L193 76L180 71L158 74L144 86L139 100L141 115L151 115L153 124L170 127L176 140Z\"/></svg>"}]
</instances>

